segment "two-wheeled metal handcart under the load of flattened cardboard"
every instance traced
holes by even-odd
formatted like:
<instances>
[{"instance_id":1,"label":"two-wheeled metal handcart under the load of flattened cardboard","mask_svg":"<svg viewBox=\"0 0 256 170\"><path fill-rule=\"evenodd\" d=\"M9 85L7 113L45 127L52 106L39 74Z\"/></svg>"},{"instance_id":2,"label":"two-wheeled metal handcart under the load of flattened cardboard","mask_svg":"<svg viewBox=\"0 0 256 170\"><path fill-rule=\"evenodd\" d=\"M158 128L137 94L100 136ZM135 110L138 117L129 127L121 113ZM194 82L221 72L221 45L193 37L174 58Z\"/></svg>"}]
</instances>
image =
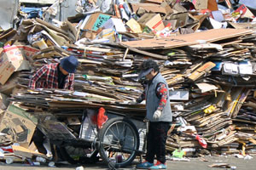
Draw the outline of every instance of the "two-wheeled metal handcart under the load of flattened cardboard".
<instances>
[{"instance_id":1,"label":"two-wheeled metal handcart under the load of flattened cardboard","mask_svg":"<svg viewBox=\"0 0 256 170\"><path fill-rule=\"evenodd\" d=\"M106 115L108 121L102 128L91 126L87 110L78 116L83 123L77 127L64 125L65 117L41 115L38 128L72 164L96 162L102 158L110 169L129 166L144 152L146 123L142 118L127 114L106 111Z\"/></svg>"}]
</instances>

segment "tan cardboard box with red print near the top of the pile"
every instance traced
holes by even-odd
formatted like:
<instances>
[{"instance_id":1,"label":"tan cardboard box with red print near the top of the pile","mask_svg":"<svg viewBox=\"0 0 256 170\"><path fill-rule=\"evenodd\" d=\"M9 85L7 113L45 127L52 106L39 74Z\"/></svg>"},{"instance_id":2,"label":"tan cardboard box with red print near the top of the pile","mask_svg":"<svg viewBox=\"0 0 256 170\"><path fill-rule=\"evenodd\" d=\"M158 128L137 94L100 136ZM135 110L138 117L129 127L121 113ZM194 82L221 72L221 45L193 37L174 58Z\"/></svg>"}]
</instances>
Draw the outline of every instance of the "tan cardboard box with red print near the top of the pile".
<instances>
[{"instance_id":1,"label":"tan cardboard box with red print near the top of the pile","mask_svg":"<svg viewBox=\"0 0 256 170\"><path fill-rule=\"evenodd\" d=\"M160 14L143 14L137 22L142 26L148 26L148 28L155 31L162 31L165 28Z\"/></svg>"}]
</instances>

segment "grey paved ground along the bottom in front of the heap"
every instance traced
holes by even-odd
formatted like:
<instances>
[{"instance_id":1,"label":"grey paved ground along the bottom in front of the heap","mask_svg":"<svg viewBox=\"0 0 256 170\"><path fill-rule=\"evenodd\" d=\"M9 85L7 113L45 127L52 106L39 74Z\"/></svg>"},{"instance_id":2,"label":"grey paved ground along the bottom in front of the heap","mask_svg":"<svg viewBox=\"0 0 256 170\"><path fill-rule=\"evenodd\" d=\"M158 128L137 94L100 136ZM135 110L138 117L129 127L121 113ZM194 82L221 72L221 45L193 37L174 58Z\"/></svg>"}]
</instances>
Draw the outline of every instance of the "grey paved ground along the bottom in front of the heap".
<instances>
[{"instance_id":1,"label":"grey paved ground along the bottom in front of the heap","mask_svg":"<svg viewBox=\"0 0 256 170\"><path fill-rule=\"evenodd\" d=\"M205 156L204 158L190 158L190 161L167 161L167 169L169 170L225 170L230 168L217 168L208 167L212 164L228 163L230 166L236 167L236 170L255 170L256 169L256 155L251 160L244 160L235 156ZM136 162L135 162L136 164ZM30 167L25 164L14 163L6 165L5 163L0 164L0 170L74 170L80 165L59 165L58 167ZM95 165L83 165L84 170L93 169L108 169L102 162L98 162ZM131 167L120 168L119 170L134 170L135 165Z\"/></svg>"}]
</instances>

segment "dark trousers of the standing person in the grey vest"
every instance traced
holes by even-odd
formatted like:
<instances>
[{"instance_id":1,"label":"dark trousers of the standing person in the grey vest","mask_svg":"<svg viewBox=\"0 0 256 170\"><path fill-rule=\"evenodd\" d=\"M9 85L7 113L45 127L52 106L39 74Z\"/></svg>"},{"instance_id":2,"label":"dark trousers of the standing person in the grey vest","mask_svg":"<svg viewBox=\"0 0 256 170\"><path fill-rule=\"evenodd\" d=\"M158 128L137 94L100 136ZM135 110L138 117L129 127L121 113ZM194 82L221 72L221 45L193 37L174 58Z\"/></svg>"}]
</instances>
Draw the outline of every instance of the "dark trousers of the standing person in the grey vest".
<instances>
[{"instance_id":1,"label":"dark trousers of the standing person in the grey vest","mask_svg":"<svg viewBox=\"0 0 256 170\"><path fill-rule=\"evenodd\" d=\"M166 163L166 139L170 122L149 122L147 136L147 154L146 160L154 162L154 156L157 161Z\"/></svg>"}]
</instances>

